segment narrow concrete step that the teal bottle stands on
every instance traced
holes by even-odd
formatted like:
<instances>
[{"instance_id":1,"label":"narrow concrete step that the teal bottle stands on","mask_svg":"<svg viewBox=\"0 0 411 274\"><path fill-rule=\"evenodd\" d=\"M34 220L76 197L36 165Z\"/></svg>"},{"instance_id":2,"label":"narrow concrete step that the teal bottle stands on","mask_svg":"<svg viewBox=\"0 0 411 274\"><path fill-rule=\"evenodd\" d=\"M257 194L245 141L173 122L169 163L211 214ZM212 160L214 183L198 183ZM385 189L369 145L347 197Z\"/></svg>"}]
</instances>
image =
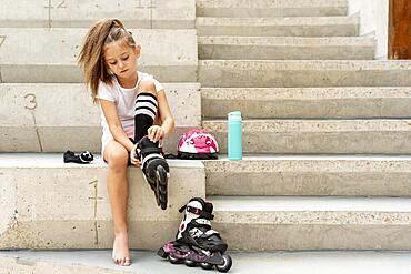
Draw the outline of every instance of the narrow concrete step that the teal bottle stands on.
<instances>
[{"instance_id":1,"label":"narrow concrete step that the teal bottle stands on","mask_svg":"<svg viewBox=\"0 0 411 274\"><path fill-rule=\"evenodd\" d=\"M409 155L220 155L203 163L207 195L411 196Z\"/></svg>"}]
</instances>

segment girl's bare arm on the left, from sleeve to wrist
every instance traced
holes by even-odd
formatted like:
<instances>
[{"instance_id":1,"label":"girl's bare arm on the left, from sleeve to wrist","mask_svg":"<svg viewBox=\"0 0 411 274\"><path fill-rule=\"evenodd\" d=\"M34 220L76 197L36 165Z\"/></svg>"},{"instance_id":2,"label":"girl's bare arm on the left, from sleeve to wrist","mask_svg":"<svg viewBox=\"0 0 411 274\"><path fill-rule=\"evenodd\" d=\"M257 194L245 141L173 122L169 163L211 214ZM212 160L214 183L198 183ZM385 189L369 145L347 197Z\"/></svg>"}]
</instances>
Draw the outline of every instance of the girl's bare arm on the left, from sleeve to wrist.
<instances>
[{"instance_id":1,"label":"girl's bare arm on the left, from sleeve to wrist","mask_svg":"<svg viewBox=\"0 0 411 274\"><path fill-rule=\"evenodd\" d=\"M128 151L131 152L134 149L134 144L130 141L121 128L121 122L119 115L117 114L114 102L102 99L99 99L99 102L112 136L117 142L121 143Z\"/></svg>"}]
</instances>

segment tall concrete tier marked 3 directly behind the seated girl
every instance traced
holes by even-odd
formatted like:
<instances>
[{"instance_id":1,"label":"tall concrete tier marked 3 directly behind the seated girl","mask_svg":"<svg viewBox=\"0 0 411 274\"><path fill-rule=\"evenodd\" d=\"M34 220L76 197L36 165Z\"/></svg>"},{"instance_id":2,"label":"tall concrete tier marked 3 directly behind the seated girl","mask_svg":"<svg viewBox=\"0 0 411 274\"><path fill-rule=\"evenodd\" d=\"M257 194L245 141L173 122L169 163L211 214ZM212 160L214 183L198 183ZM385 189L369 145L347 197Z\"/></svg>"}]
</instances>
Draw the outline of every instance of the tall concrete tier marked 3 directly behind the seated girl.
<instances>
[{"instance_id":1,"label":"tall concrete tier marked 3 directly behind the seated girl","mask_svg":"<svg viewBox=\"0 0 411 274\"><path fill-rule=\"evenodd\" d=\"M200 85L163 85L176 119L164 150L174 152L180 134L201 123ZM0 94L0 152L101 151L100 109L84 84L2 83Z\"/></svg>"}]
</instances>

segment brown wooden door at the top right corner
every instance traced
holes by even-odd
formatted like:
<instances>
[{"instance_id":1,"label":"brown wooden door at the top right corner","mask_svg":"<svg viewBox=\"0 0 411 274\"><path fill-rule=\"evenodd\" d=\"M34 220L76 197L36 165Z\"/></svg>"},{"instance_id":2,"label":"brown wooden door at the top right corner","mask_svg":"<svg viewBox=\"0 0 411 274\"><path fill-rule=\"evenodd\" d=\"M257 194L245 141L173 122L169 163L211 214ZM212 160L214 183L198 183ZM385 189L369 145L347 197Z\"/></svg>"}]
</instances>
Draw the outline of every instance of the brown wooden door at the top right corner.
<instances>
[{"instance_id":1,"label":"brown wooden door at the top right corner","mask_svg":"<svg viewBox=\"0 0 411 274\"><path fill-rule=\"evenodd\" d=\"M411 0L390 0L390 59L411 59Z\"/></svg>"}]
</instances>

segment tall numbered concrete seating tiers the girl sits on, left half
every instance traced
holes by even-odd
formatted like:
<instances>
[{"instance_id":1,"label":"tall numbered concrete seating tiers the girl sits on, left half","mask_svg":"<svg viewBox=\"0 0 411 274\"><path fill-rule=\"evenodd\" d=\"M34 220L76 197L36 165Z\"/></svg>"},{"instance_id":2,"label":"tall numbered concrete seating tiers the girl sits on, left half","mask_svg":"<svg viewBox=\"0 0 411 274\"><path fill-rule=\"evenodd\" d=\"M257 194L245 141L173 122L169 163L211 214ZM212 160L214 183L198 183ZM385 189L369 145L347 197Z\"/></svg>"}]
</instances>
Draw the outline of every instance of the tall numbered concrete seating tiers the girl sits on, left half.
<instances>
[{"instance_id":1,"label":"tall numbered concrete seating tiers the girl sits on, left half","mask_svg":"<svg viewBox=\"0 0 411 274\"><path fill-rule=\"evenodd\" d=\"M194 0L8 1L0 11L1 250L111 247L100 113L76 58L92 22L120 16L142 45L139 69L154 74L168 92L177 129L167 151L176 151L179 135L201 124ZM89 150L97 159L90 165L64 164L66 150ZM154 250L172 239L181 221L178 209L206 195L200 161L174 160L170 166L166 212L141 171L130 168L129 222L139 232L130 235L132 248Z\"/></svg>"}]
</instances>

